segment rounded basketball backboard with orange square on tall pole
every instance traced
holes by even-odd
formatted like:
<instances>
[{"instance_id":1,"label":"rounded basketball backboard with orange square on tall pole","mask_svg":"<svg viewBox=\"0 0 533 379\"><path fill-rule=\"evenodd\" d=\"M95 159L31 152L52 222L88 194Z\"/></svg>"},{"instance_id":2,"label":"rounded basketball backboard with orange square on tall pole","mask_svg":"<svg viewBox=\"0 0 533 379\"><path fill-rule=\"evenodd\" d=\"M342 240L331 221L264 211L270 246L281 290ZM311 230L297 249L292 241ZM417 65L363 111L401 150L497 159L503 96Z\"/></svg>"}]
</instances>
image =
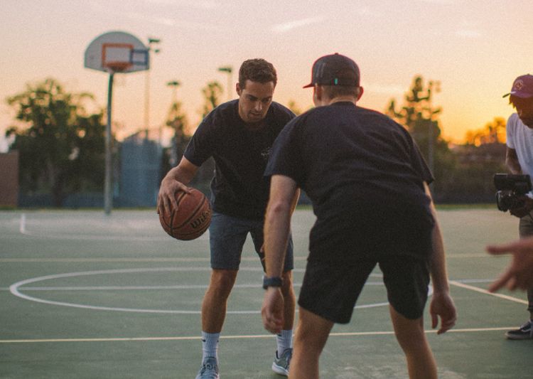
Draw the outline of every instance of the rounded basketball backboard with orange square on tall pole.
<instances>
[{"instance_id":1,"label":"rounded basketball backboard with orange square on tall pole","mask_svg":"<svg viewBox=\"0 0 533 379\"><path fill-rule=\"evenodd\" d=\"M85 67L104 73L149 70L150 55L144 43L123 31L110 31L93 40L85 50Z\"/></svg>"}]
</instances>

